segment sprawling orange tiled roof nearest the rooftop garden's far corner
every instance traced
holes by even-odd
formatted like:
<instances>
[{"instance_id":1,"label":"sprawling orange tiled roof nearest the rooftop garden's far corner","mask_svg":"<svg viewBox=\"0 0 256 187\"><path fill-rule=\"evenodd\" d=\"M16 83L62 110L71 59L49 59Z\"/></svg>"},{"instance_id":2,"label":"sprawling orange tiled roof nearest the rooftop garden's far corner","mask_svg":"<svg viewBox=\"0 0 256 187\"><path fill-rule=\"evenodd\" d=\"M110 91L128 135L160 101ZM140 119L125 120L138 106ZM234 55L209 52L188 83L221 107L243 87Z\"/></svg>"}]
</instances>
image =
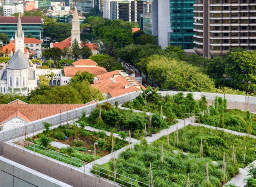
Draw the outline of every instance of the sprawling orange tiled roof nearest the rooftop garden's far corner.
<instances>
[{"instance_id":1,"label":"sprawling orange tiled roof nearest the rooftop garden's far corner","mask_svg":"<svg viewBox=\"0 0 256 187\"><path fill-rule=\"evenodd\" d=\"M123 95L133 91L140 91L140 87L145 87L140 84L136 79L127 75L121 74L122 71L111 71L106 74L97 76L98 81L94 81L91 84L93 87L99 88L102 93L108 93L111 97L116 97L116 95ZM115 76L114 75L118 75ZM129 82L130 81L130 82Z\"/></svg>"}]
</instances>

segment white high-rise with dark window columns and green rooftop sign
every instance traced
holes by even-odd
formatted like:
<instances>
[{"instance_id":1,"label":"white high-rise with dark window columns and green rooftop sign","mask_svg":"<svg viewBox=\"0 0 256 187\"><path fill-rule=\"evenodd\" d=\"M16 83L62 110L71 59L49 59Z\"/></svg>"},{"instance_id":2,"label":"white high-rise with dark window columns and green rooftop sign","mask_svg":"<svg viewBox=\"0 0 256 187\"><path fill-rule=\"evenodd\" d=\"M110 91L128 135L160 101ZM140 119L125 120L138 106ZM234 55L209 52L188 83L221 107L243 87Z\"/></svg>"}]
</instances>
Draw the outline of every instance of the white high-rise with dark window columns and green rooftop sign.
<instances>
[{"instance_id":1,"label":"white high-rise with dark window columns and green rooftop sign","mask_svg":"<svg viewBox=\"0 0 256 187\"><path fill-rule=\"evenodd\" d=\"M143 14L143 1L103 1L103 18L139 23L140 14Z\"/></svg>"}]
</instances>

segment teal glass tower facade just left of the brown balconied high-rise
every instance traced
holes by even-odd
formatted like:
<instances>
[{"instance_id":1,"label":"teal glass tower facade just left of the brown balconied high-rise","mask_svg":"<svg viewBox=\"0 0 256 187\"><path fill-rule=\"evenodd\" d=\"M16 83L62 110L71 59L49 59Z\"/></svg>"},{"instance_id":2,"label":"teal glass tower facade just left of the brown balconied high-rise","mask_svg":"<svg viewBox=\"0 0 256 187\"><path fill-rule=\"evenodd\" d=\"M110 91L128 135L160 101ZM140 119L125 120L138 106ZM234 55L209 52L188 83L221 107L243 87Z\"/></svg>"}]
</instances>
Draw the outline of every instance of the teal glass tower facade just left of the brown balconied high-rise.
<instances>
[{"instance_id":1,"label":"teal glass tower facade just left of the brown balconied high-rise","mask_svg":"<svg viewBox=\"0 0 256 187\"><path fill-rule=\"evenodd\" d=\"M170 0L170 45L193 48L194 0Z\"/></svg>"}]
</instances>

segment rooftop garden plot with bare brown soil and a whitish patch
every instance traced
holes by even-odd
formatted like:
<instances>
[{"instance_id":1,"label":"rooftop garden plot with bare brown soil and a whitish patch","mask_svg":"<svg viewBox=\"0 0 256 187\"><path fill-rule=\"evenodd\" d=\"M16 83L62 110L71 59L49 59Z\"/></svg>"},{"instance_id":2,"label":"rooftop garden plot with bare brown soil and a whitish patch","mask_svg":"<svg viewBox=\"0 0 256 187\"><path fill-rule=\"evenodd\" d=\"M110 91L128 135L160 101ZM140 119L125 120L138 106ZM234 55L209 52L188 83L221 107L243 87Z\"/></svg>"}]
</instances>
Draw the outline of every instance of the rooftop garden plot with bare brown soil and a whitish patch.
<instances>
[{"instance_id":1,"label":"rooftop garden plot with bare brown soil and a whitish patch","mask_svg":"<svg viewBox=\"0 0 256 187\"><path fill-rule=\"evenodd\" d=\"M95 156L96 160L108 155L111 153L112 149L112 136L107 136L104 131L99 132L91 132L84 129L83 125L80 125L80 128L77 125L60 125L54 129L50 129L51 124L44 122L45 130L42 133L34 136L34 143L37 144L35 146L35 151L45 155L45 148L47 148L47 156L57 159L56 155L59 153L63 158L69 158L65 155L73 157L78 160L74 160L72 165L75 163L79 163L79 165L75 165L77 167L81 167L84 165L84 162L92 162L94 157L94 144L95 144ZM67 136L67 139L65 139ZM113 137L114 141L114 149L118 150L122 147L125 147L128 143L125 141L126 137L121 136L123 139L119 139L118 137ZM28 142L33 142L33 138L27 137ZM62 147L60 149L51 146L50 142L60 142L69 147ZM34 144L28 144L25 148L34 151ZM38 150L39 149L39 150ZM42 151L44 151L42 153ZM70 163L70 158L67 161ZM61 161L61 160L60 160ZM62 159L63 162L66 162Z\"/></svg>"}]
</instances>

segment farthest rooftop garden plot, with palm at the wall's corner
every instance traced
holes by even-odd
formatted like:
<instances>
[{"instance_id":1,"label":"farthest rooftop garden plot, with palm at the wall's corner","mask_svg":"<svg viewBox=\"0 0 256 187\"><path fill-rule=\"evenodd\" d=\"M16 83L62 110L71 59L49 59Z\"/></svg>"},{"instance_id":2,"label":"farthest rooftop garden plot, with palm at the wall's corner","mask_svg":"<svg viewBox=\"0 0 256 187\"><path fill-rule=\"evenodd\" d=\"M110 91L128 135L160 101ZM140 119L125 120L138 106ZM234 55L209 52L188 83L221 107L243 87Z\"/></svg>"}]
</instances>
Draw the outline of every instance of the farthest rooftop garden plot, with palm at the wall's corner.
<instances>
[{"instance_id":1,"label":"farthest rooftop garden plot, with palm at the wall's corner","mask_svg":"<svg viewBox=\"0 0 256 187\"><path fill-rule=\"evenodd\" d=\"M188 93L184 97L184 93L179 92L173 96L166 95L162 97L158 93L158 88L153 90L151 87L148 87L136 99L127 101L122 106L146 112L151 111L153 113L161 113L162 111L163 115L167 118L183 119L185 113L200 113L206 110L206 103L205 96L200 100L194 100L192 93Z\"/></svg>"}]
</instances>

